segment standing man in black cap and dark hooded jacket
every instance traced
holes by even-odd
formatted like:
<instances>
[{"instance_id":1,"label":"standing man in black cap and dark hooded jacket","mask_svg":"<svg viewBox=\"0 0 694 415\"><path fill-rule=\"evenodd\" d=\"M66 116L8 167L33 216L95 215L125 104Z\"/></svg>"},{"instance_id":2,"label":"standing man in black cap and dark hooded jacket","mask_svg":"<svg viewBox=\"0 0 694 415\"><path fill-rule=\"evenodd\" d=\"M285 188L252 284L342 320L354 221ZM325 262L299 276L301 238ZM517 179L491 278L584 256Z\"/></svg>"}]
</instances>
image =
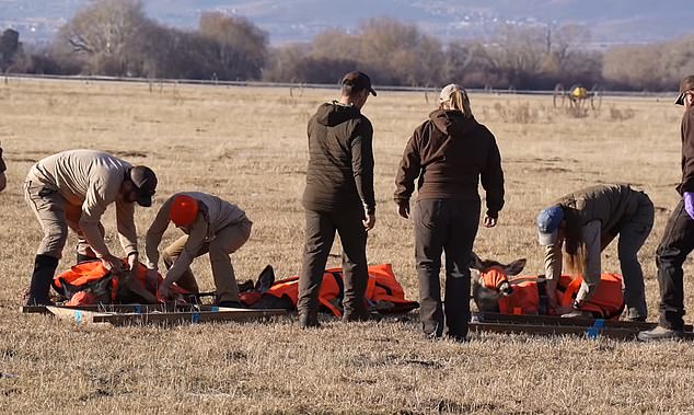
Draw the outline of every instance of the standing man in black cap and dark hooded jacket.
<instances>
[{"instance_id":1,"label":"standing man in black cap and dark hooded jacket","mask_svg":"<svg viewBox=\"0 0 694 415\"><path fill-rule=\"evenodd\" d=\"M375 91L369 77L357 71L345 74L342 84L339 101L322 104L309 120L305 245L297 304L301 327L319 326L319 289L335 231L343 244L343 321L368 316L367 232L375 224L373 127L360 109Z\"/></svg>"}]
</instances>

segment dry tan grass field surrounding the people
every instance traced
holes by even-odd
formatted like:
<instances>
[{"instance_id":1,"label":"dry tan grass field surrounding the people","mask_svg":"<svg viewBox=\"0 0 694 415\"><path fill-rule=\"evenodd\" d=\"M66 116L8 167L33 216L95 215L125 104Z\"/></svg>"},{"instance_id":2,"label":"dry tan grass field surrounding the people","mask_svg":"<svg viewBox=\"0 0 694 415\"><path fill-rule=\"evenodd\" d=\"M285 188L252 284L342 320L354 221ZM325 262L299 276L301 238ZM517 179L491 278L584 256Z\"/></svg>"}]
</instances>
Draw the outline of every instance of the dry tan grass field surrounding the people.
<instances>
[{"instance_id":1,"label":"dry tan grass field surrounding the people","mask_svg":"<svg viewBox=\"0 0 694 415\"><path fill-rule=\"evenodd\" d=\"M137 209L140 237L170 194L215 193L254 221L233 256L240 279L266 264L299 270L305 124L337 91L56 82L0 84L0 140L9 165L0 194L0 412L2 413L687 413L694 412L691 344L472 334L467 344L428 342L408 319L301 331L293 318L269 323L172 327L81 327L18 312L42 232L22 182L34 161L65 149L106 150L148 164L160 177L155 205ZM536 212L583 185L629 182L657 206L641 251L649 320L657 318L655 250L676 203L681 108L671 100L605 99L576 118L552 97L472 95L477 118L504 157L507 203L475 251L528 258L542 272ZM412 223L391 201L409 132L432 103L423 93L381 92L365 113L374 125L377 227L370 263L390 262L417 299ZM114 252L113 209L104 224ZM164 243L177 233L171 230ZM72 237L71 237L72 238ZM59 270L73 260L68 242ZM338 244L334 252L339 252ZM338 265L332 257L329 265ZM618 272L616 250L603 268ZM207 258L194 264L213 289ZM694 266L687 262L685 274ZM694 307L694 290L685 296ZM693 323L691 316L685 316Z\"/></svg>"}]
</instances>

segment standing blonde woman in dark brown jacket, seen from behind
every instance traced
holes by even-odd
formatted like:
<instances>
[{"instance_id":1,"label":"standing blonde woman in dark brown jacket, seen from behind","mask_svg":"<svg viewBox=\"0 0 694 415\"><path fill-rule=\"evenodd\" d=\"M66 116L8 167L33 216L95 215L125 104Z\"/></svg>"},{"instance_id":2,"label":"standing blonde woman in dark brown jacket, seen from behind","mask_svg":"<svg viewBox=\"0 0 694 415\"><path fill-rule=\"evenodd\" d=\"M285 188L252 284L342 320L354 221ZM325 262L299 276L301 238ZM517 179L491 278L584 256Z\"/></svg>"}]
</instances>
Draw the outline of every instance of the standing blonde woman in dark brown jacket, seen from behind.
<instances>
[{"instance_id":1,"label":"standing blonde woman in dark brown jacket, seen from behind","mask_svg":"<svg viewBox=\"0 0 694 415\"><path fill-rule=\"evenodd\" d=\"M409 217L409 198L418 178L415 215L415 258L419 279L423 330L431 338L467 336L470 258L479 222L477 184L486 192L483 226L493 228L504 206L504 172L494 135L473 117L466 91L450 84L439 108L417 127L397 171L397 212ZM446 252L446 309L439 272Z\"/></svg>"}]
</instances>

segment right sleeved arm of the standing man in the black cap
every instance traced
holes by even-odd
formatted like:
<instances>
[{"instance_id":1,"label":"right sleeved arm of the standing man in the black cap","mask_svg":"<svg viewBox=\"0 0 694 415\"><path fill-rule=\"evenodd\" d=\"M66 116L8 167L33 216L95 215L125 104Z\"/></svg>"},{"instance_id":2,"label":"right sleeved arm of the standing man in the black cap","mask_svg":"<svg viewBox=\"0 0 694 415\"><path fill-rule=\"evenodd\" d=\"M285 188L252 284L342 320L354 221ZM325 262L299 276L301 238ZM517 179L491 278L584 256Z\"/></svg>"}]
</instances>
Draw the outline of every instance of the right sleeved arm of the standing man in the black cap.
<instances>
[{"instance_id":1,"label":"right sleeved arm of the standing man in the black cap","mask_svg":"<svg viewBox=\"0 0 694 415\"><path fill-rule=\"evenodd\" d=\"M351 139L351 170L357 192L367 215L375 212L373 194L373 128L369 122L360 119Z\"/></svg>"}]
</instances>

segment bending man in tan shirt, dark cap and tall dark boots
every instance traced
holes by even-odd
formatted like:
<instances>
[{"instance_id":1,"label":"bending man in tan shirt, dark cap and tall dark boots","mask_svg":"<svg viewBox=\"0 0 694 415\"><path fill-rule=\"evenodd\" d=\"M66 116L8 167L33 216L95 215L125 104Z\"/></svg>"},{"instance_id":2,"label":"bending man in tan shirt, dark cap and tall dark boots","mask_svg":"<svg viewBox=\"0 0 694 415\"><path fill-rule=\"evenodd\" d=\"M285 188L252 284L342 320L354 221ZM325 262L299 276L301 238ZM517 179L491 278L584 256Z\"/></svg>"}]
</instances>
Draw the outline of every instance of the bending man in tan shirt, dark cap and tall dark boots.
<instances>
[{"instance_id":1,"label":"bending man in tan shirt, dark cap and tall dark boots","mask_svg":"<svg viewBox=\"0 0 694 415\"><path fill-rule=\"evenodd\" d=\"M68 228L78 234L78 262L100 258L115 273L122 270L120 258L104 242L101 217L116 204L116 224L120 244L130 267L138 264L135 203L151 206L157 176L143 165L129 163L101 151L69 150L38 161L24 183L26 203L44 230L36 252L27 306L48 304L48 291Z\"/></svg>"}]
</instances>

